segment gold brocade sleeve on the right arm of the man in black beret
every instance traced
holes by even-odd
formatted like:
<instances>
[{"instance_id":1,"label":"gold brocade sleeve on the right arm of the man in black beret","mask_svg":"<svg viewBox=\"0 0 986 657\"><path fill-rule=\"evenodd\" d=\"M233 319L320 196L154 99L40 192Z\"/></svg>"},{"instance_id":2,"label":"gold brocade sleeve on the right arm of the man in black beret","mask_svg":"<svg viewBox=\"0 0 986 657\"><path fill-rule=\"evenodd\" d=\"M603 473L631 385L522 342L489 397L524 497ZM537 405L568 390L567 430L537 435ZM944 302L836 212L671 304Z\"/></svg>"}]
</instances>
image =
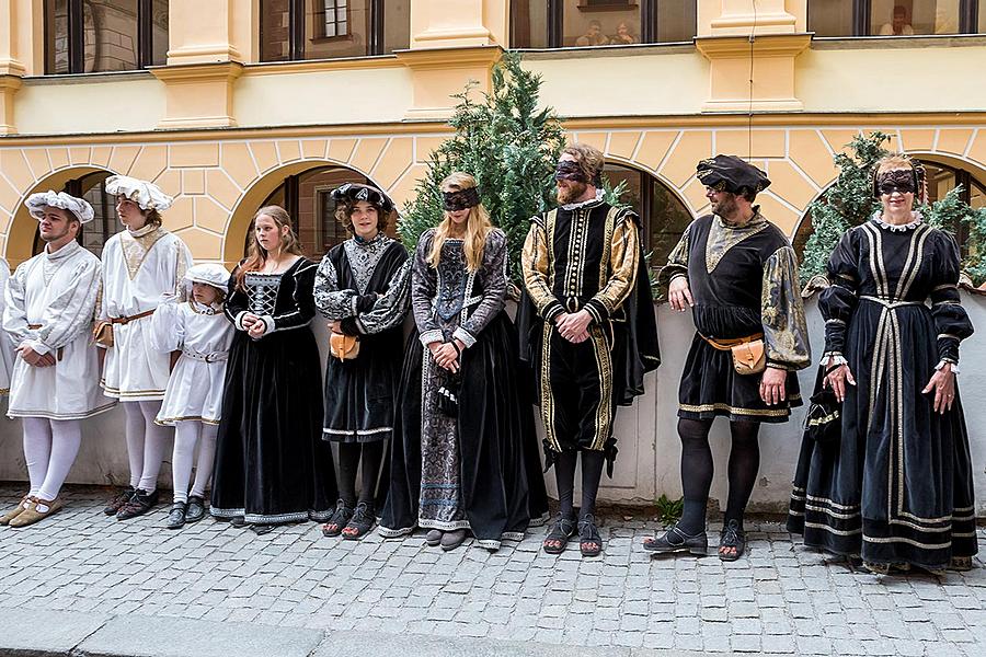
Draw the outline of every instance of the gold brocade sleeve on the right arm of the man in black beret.
<instances>
[{"instance_id":1,"label":"gold brocade sleeve on the right arm of the man in black beret","mask_svg":"<svg viewBox=\"0 0 986 657\"><path fill-rule=\"evenodd\" d=\"M760 318L767 365L800 370L811 365L807 322L798 286L798 256L791 246L778 249L764 266Z\"/></svg>"}]
</instances>

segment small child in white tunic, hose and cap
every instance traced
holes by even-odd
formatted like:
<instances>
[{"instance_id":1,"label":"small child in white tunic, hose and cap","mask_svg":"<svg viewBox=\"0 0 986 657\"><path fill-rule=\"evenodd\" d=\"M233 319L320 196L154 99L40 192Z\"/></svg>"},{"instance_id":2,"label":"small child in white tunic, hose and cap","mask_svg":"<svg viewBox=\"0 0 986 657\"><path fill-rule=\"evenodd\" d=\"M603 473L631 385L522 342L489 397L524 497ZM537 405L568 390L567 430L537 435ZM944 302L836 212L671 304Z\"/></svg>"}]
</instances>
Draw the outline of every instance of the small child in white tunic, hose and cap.
<instances>
[{"instance_id":1,"label":"small child in white tunic, hose and cap","mask_svg":"<svg viewBox=\"0 0 986 657\"><path fill-rule=\"evenodd\" d=\"M154 349L177 355L154 420L174 427L174 500L168 529L180 529L205 516L205 487L216 458L226 361L233 337L233 326L222 314L228 284L229 272L222 266L195 265L185 273L187 301L172 298L153 314ZM192 462L199 442L190 493Z\"/></svg>"}]
</instances>

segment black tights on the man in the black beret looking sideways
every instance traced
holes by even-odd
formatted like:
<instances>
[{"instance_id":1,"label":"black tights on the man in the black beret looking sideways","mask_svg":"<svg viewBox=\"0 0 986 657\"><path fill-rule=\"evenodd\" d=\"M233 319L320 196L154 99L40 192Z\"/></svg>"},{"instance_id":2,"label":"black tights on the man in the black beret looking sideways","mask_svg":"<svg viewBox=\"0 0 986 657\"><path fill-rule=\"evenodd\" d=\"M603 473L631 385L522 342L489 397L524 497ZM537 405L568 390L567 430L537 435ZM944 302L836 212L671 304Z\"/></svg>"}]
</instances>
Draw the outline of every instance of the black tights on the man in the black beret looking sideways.
<instances>
[{"instance_id":1,"label":"black tights on the man in the black beret looking sideways","mask_svg":"<svg viewBox=\"0 0 986 657\"><path fill-rule=\"evenodd\" d=\"M709 447L711 419L678 419L678 436L681 437L681 487L685 492L685 508L678 527L688 534L706 529L706 506L709 488L712 486L712 449ZM730 434L733 445L730 449L730 495L723 520L737 520L743 527L743 511L757 481L760 469L760 443L757 434L758 422L731 422Z\"/></svg>"}]
</instances>

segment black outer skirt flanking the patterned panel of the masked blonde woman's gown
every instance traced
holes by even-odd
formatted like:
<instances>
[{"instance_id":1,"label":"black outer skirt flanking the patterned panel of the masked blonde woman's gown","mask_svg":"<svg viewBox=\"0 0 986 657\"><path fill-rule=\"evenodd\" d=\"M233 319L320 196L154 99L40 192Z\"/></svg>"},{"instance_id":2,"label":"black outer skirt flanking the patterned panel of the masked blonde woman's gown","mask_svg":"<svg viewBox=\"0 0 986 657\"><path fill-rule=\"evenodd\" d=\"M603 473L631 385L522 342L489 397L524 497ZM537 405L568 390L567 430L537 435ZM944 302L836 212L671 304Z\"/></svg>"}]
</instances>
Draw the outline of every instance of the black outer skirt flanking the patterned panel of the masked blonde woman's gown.
<instances>
[{"instance_id":1,"label":"black outer skirt flanking the patterned panel of the masked blonde woman's gown","mask_svg":"<svg viewBox=\"0 0 986 657\"><path fill-rule=\"evenodd\" d=\"M401 373L390 491L380 520L385 537L409 533L417 526L423 356L415 331ZM462 354L461 365L457 417L461 504L477 541L495 549L501 540L519 540L528 526L548 514L534 408L517 377L517 335L506 313L480 333Z\"/></svg>"}]
</instances>

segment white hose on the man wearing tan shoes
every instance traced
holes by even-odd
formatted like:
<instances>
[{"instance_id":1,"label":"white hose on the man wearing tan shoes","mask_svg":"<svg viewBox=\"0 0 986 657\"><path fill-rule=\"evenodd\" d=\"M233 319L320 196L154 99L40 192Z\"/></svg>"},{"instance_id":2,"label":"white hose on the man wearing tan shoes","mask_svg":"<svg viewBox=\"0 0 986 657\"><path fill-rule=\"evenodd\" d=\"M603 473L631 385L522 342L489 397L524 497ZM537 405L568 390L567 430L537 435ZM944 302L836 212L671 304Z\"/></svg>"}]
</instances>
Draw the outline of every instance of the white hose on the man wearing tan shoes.
<instances>
[{"instance_id":1,"label":"white hose on the man wearing tan shoes","mask_svg":"<svg viewBox=\"0 0 986 657\"><path fill-rule=\"evenodd\" d=\"M31 479L28 495L50 502L58 497L76 462L82 442L82 425L77 419L25 417L23 427L24 459Z\"/></svg>"}]
</instances>

